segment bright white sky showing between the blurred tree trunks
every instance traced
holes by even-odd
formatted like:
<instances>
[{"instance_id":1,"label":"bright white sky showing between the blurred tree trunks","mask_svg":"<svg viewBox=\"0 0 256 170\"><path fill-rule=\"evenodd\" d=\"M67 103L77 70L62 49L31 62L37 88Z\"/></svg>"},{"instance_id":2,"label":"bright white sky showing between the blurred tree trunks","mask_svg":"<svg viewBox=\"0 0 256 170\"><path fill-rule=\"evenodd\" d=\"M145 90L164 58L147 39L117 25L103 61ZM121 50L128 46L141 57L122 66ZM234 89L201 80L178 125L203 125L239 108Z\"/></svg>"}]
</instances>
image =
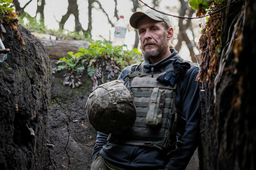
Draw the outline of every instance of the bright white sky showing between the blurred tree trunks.
<instances>
[{"instance_id":1,"label":"bright white sky showing between the blurred tree trunks","mask_svg":"<svg viewBox=\"0 0 256 170\"><path fill-rule=\"evenodd\" d=\"M29 0L19 0L20 6L24 6ZM102 4L102 7L108 13L109 18L114 23L116 21L114 16L114 1L113 0L99 0ZM148 5L151 5L151 0L143 0ZM61 20L62 15L65 15L67 12L68 7L68 0L45 0L45 7L44 7L44 15L45 15L45 26L49 29L58 29L59 23L58 21ZM141 3L141 2L140 2ZM82 24L83 29L87 29L88 25L88 1L87 0L77 0L77 4L79 7L79 19L80 23ZM141 3L142 4L142 3ZM94 3L94 6L96 8L93 8L92 11L92 38L94 40L113 40L114 36L114 27L111 27L111 24L108 23L108 19L105 16L105 14L100 10L97 9L98 4ZM179 6L180 2L178 0L161 0L159 3L160 10L163 12L166 12L168 14L172 15L179 15ZM165 6L168 6L168 9L165 8ZM37 0L32 0L30 4L25 8L25 12L29 13L31 16L35 16L37 8ZM131 50L132 46L134 44L135 40L135 31L134 29L129 25L129 18L132 15L132 2L128 0L117 0L117 10L119 11L118 15L123 15L125 21L128 24L126 37L125 37L125 44L128 46L128 49ZM147 6L143 6L140 11L147 10ZM178 19L176 17L169 17L172 21L172 26L174 29L174 36L172 38L171 43L175 45L177 43L177 35L178 35ZM198 24L204 22L205 18L203 19L194 19L193 20L193 27L195 28L195 41L198 44L199 38L200 38L200 30ZM74 22L74 16L70 15L69 19L67 20L64 28L73 31L75 26ZM193 39L193 36L191 34L190 30L187 30L186 32L190 38L190 40ZM199 54L199 51L195 47L195 53L196 55ZM180 50L179 54L185 59L190 60L189 57L189 51L186 47L186 45L183 42L182 49Z\"/></svg>"}]
</instances>

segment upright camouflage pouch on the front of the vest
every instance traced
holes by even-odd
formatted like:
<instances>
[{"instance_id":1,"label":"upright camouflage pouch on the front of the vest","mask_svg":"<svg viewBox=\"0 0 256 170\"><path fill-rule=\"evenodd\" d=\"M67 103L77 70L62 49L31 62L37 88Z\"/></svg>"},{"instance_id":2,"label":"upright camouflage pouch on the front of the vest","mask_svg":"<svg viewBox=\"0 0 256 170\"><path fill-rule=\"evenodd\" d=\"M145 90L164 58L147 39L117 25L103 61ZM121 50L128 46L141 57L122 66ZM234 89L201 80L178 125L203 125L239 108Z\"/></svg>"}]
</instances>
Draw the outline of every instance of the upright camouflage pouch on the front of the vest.
<instances>
[{"instance_id":1,"label":"upright camouflage pouch on the front of the vest","mask_svg":"<svg viewBox=\"0 0 256 170\"><path fill-rule=\"evenodd\" d=\"M157 126L162 122L163 104L165 102L165 91L154 88L151 91L150 101L146 116L147 126Z\"/></svg>"}]
</instances>

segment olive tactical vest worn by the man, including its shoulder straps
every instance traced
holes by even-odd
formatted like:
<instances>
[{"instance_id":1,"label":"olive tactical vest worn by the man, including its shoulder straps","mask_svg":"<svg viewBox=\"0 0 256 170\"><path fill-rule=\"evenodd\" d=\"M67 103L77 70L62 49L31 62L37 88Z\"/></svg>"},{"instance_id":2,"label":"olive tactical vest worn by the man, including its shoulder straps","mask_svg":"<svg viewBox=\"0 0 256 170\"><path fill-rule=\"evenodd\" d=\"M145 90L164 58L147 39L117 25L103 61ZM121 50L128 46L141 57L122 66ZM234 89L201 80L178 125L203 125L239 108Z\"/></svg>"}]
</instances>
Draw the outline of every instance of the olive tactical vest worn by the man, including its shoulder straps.
<instances>
[{"instance_id":1,"label":"olive tactical vest worn by the man, including its shoulder straps","mask_svg":"<svg viewBox=\"0 0 256 170\"><path fill-rule=\"evenodd\" d=\"M174 105L177 83L171 85L156 81L157 77L174 71L174 68L171 66L162 73L144 73L143 63L131 65L124 77L129 78L125 85L134 96L136 120L129 131L120 135L110 134L108 141L166 149L168 152L176 150L186 124L183 114ZM131 72L132 66L136 66L134 73Z\"/></svg>"}]
</instances>

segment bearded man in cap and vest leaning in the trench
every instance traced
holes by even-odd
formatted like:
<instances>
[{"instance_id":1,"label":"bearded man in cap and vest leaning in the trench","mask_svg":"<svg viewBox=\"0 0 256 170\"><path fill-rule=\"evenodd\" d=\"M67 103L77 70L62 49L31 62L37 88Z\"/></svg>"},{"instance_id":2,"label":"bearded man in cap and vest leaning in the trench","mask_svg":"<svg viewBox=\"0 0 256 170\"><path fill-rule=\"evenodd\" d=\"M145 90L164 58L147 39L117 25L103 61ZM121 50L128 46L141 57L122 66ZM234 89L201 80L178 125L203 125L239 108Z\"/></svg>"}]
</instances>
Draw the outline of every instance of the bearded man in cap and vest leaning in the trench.
<instances>
[{"instance_id":1,"label":"bearded man in cap and vest leaning in the trench","mask_svg":"<svg viewBox=\"0 0 256 170\"><path fill-rule=\"evenodd\" d=\"M137 118L131 130L124 134L98 132L91 170L185 169L199 138L199 84L195 81L198 67L184 62L177 51L169 47L173 28L168 16L154 10L135 12L130 24L138 30L144 62L125 68L118 79L125 77L127 88L133 92ZM151 92L148 93L147 88ZM157 102L151 103L154 91L160 94L155 95L160 103L156 112ZM167 95L174 93L173 98ZM142 106L145 104L143 95L145 100L150 99L148 106ZM162 100L165 101L163 106ZM176 114L177 126L170 116L175 115L174 112L181 112L184 118ZM154 116L155 122L151 120ZM144 122L139 125L140 119ZM175 127L178 127L177 132ZM175 131L174 136L172 131Z\"/></svg>"}]
</instances>

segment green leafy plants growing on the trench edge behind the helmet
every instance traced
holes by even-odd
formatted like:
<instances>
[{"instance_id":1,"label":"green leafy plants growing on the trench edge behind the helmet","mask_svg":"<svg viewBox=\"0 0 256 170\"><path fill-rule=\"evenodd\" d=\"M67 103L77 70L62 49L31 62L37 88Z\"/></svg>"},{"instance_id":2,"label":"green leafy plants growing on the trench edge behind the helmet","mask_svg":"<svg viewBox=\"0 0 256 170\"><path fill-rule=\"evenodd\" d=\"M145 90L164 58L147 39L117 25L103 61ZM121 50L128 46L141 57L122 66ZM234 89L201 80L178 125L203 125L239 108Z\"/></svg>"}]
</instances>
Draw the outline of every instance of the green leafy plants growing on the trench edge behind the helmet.
<instances>
[{"instance_id":1,"label":"green leafy plants growing on the trench edge behind the helmet","mask_svg":"<svg viewBox=\"0 0 256 170\"><path fill-rule=\"evenodd\" d=\"M110 72L108 79L110 79L112 76L114 76L114 72L118 72L119 68L117 68L115 64L118 64L121 69L124 69L128 65L142 61L139 54L141 53L138 51L138 49L133 49L130 51L127 49L126 45L112 47L110 43L105 41L95 41L91 43L89 49L79 48L79 52L69 52L69 56L60 58L57 62L57 70L66 69L73 74L75 72L81 73L82 70L87 68L87 74L92 79L96 79L94 75L96 74L97 70L101 69L99 68L99 60L106 60L110 61L109 66L113 67L113 69L108 70ZM67 82L67 84L70 84L70 82Z\"/></svg>"}]
</instances>

